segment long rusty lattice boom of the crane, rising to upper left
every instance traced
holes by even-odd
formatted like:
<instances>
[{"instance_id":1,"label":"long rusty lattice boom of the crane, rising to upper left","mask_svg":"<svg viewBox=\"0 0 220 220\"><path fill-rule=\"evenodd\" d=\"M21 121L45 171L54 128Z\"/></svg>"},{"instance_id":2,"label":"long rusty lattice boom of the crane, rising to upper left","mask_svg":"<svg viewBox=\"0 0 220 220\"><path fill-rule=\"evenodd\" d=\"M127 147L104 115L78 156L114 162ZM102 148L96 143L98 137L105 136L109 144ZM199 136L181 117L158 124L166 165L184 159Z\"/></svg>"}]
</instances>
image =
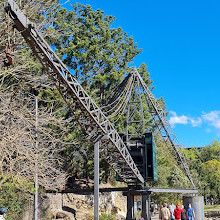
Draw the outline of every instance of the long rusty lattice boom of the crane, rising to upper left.
<instances>
[{"instance_id":1,"label":"long rusty lattice boom of the crane, rising to upper left","mask_svg":"<svg viewBox=\"0 0 220 220\"><path fill-rule=\"evenodd\" d=\"M88 138L97 140L102 137L101 155L129 185L144 183L143 177L112 123L40 36L34 25L13 0L8 0L5 10L41 62Z\"/></svg>"}]
</instances>

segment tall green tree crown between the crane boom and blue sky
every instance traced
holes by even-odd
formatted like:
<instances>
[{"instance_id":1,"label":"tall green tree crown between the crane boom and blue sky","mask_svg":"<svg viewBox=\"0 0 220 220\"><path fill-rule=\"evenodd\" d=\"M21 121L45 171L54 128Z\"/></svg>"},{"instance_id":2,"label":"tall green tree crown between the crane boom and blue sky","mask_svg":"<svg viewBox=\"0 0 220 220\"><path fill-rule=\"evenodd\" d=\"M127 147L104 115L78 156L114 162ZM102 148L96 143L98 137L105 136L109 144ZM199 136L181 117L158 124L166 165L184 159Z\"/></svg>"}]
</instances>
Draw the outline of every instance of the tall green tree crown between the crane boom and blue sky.
<instances>
[{"instance_id":1,"label":"tall green tree crown between the crane boom and blue sky","mask_svg":"<svg viewBox=\"0 0 220 220\"><path fill-rule=\"evenodd\" d=\"M112 28L114 20L99 9L76 3L71 11L56 10L48 29L49 42L99 103L121 82L130 69L128 64L141 52L121 27ZM146 65L141 74L150 81Z\"/></svg>"}]
</instances>

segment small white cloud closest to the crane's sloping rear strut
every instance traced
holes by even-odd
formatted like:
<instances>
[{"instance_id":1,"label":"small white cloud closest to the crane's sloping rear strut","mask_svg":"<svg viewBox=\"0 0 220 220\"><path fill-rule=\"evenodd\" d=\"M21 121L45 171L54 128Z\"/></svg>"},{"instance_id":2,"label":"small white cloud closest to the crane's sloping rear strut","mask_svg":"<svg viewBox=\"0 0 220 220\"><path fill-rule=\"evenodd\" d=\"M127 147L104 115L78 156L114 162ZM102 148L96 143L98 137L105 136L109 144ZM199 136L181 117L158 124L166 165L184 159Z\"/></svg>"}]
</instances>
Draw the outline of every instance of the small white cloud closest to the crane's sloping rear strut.
<instances>
[{"instance_id":1,"label":"small white cloud closest to the crane's sloping rear strut","mask_svg":"<svg viewBox=\"0 0 220 220\"><path fill-rule=\"evenodd\" d=\"M202 123L202 119L200 117L194 119L186 115L177 116L176 112L173 111L170 111L169 113L172 115L169 119L170 125L172 127L174 127L175 124L191 124L193 127L198 127Z\"/></svg>"}]
</instances>

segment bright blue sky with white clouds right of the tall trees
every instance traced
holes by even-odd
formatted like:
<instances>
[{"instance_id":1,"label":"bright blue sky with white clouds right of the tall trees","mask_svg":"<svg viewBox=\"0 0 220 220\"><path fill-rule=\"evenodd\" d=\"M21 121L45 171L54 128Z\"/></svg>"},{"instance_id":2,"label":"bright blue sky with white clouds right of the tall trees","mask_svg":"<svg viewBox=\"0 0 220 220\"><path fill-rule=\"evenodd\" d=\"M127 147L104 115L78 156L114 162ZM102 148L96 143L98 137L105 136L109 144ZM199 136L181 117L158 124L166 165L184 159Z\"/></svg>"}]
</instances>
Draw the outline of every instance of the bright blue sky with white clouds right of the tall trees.
<instances>
[{"instance_id":1,"label":"bright blue sky with white clouds right of the tall trees","mask_svg":"<svg viewBox=\"0 0 220 220\"><path fill-rule=\"evenodd\" d=\"M147 64L153 93L165 99L182 146L220 140L220 1L78 2L114 15L114 27L121 26L143 49L133 65Z\"/></svg>"}]
</instances>

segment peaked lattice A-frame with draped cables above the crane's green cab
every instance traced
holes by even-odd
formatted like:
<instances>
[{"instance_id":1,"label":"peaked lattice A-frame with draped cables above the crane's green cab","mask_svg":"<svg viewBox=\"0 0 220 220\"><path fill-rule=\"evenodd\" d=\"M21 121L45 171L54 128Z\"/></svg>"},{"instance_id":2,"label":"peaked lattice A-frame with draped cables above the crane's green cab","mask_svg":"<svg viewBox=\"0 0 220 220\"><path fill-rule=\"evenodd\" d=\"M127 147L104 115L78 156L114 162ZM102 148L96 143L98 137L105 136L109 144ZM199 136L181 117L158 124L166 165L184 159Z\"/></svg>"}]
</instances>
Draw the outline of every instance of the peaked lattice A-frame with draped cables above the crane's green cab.
<instances>
[{"instance_id":1,"label":"peaked lattice A-frame with draped cables above the crane's green cab","mask_svg":"<svg viewBox=\"0 0 220 220\"><path fill-rule=\"evenodd\" d=\"M115 102L117 99L119 99L119 97L121 101L118 100L117 102L123 106L122 109L126 109L127 113L126 142L128 143L129 140L134 137L142 137L146 132L146 119L144 117L143 110L144 101L147 103L148 110L153 118L154 124L160 131L163 140L168 146L168 149L176 158L178 164L183 168L192 187L195 189L196 186L191 176L184 153L167 119L166 112L154 97L136 68L133 68L133 70L127 75L122 83L115 89L111 98L107 100L107 107L104 108L106 114L111 114L111 110L113 111L113 114L115 114L115 109L113 106L117 105ZM129 130L129 126L132 126L135 128L135 130ZM127 146L129 147L129 144L127 144Z\"/></svg>"}]
</instances>

